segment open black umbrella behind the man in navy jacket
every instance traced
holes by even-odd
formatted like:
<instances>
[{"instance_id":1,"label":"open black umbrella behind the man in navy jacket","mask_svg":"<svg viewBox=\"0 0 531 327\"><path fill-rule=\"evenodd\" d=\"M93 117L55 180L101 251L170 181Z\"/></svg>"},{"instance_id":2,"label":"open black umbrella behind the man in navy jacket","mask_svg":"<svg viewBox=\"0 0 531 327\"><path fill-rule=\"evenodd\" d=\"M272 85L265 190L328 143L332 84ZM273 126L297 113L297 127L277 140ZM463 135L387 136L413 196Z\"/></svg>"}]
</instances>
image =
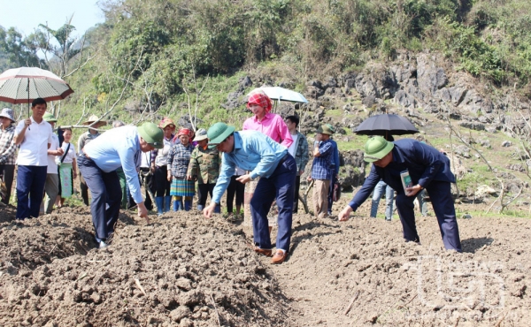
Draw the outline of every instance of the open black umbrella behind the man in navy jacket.
<instances>
[{"instance_id":1,"label":"open black umbrella behind the man in navy jacket","mask_svg":"<svg viewBox=\"0 0 531 327\"><path fill-rule=\"evenodd\" d=\"M366 118L358 125L354 133L360 135L404 135L419 133L419 130L409 121L398 115L377 115Z\"/></svg>"}]
</instances>

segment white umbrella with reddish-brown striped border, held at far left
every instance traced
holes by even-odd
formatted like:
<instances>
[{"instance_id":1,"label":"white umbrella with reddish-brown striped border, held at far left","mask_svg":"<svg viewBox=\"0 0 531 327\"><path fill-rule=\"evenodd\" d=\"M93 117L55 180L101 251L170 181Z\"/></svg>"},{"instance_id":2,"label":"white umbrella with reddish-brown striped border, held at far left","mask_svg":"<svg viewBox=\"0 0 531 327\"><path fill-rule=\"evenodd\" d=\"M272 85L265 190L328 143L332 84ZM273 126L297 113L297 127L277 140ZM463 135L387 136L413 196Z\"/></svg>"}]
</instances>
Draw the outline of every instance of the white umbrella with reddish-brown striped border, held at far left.
<instances>
[{"instance_id":1,"label":"white umbrella with reddish-brown striped border, held at far left","mask_svg":"<svg viewBox=\"0 0 531 327\"><path fill-rule=\"evenodd\" d=\"M13 68L0 75L0 101L29 103L41 97L46 101L65 99L73 89L53 72L36 67Z\"/></svg>"}]
</instances>

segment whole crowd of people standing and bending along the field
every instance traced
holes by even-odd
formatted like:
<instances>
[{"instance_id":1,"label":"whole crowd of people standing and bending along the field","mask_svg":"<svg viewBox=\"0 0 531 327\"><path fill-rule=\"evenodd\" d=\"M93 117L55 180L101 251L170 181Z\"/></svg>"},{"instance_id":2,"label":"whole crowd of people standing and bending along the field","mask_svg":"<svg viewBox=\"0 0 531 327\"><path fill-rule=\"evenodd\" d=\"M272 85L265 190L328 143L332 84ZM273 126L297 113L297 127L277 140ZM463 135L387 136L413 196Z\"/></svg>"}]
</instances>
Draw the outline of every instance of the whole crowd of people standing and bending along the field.
<instances>
[{"instance_id":1,"label":"whole crowd of people standing and bending along the field","mask_svg":"<svg viewBox=\"0 0 531 327\"><path fill-rule=\"evenodd\" d=\"M81 134L77 150L71 129L61 129L60 140L53 133L57 118L46 111L44 100L35 99L31 117L16 126L12 110L6 108L0 113L0 173L7 187L2 201L9 202L15 163L17 219L39 217L62 206L73 195L79 172L81 197L90 205L98 247L104 248L112 242L120 208L136 206L138 216L149 223L150 209L156 209L158 216L170 209L189 211L194 209L197 194L195 209L212 217L221 214L221 197L227 191L227 219L241 218L243 209L243 224L253 229L255 252L272 256L273 263L284 262L289 255L293 213L298 210L300 179L311 157L308 181L313 187L314 215L319 220L333 217L332 194L340 168L339 149L332 139L335 129L320 125L311 148L299 132L299 118L272 113L273 103L262 90L250 93L247 108L253 115L245 120L242 131L223 122L208 130L177 129L171 118L164 118L158 124L140 126L115 121L112 129L99 133L107 122L91 116L83 123L89 129ZM419 141L382 137L369 139L364 154L366 162L372 163L371 173L339 213L339 220L347 220L374 189L373 202L379 201L387 187L391 206L396 192L404 239L419 243L412 203L420 192L427 192L444 246L460 252L450 196L455 178L448 158ZM404 171L411 176L411 186L403 187ZM390 211L386 218L390 219L392 207Z\"/></svg>"}]
</instances>

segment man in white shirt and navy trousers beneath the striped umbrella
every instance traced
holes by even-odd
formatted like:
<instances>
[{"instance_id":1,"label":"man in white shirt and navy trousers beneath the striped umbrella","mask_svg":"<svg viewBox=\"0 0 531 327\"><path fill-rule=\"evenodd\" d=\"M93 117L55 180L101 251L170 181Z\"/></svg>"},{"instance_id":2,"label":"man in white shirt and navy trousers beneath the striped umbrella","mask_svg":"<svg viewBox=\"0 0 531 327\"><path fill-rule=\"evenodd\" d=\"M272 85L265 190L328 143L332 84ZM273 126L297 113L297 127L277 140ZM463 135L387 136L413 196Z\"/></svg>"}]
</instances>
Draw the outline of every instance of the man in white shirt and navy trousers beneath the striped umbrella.
<instances>
[{"instance_id":1,"label":"man in white shirt and navy trousers beneath the striped umbrella","mask_svg":"<svg viewBox=\"0 0 531 327\"><path fill-rule=\"evenodd\" d=\"M48 148L52 140L51 125L42 116L46 101L37 98L31 103L33 114L19 121L15 144L20 146L17 164L17 219L39 217L48 166Z\"/></svg>"}]
</instances>

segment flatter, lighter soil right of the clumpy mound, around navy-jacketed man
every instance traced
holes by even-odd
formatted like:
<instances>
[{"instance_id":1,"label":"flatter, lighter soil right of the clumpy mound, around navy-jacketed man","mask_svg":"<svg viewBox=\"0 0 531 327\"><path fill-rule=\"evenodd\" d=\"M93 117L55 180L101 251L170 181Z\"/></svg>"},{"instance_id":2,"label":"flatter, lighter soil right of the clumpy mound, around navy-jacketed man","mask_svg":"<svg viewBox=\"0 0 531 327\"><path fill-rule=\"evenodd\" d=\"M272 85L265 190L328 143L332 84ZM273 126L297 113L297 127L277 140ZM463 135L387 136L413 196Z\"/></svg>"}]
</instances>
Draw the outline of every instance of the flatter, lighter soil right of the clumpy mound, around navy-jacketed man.
<instances>
[{"instance_id":1,"label":"flatter, lighter soil right of the clumpy mound, around navy-jacketed man","mask_svg":"<svg viewBox=\"0 0 531 327\"><path fill-rule=\"evenodd\" d=\"M530 220L460 219L457 254L435 217L418 219L418 246L367 209L341 224L297 216L292 255L271 268L293 325L528 325Z\"/></svg>"}]
</instances>

